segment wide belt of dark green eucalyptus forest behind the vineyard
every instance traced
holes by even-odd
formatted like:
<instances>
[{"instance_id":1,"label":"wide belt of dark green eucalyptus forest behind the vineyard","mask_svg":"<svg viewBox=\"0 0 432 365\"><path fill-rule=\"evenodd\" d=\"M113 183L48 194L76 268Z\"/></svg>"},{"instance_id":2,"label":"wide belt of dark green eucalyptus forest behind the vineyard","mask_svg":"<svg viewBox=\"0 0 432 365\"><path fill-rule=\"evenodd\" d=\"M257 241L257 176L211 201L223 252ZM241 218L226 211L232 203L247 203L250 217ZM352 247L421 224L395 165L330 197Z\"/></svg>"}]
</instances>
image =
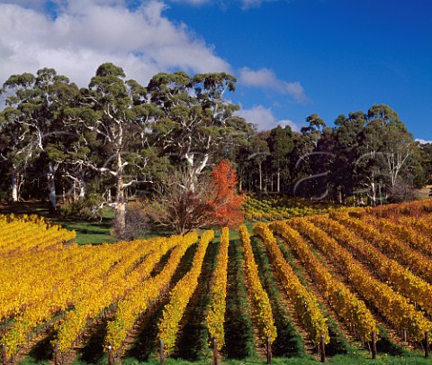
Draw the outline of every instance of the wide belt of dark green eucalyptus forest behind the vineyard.
<instances>
[{"instance_id":1,"label":"wide belt of dark green eucalyptus forest behind the vineyard","mask_svg":"<svg viewBox=\"0 0 432 365\"><path fill-rule=\"evenodd\" d=\"M311 114L301 132L257 131L229 101L235 89L229 74L183 71L143 87L112 63L85 88L52 68L12 75L0 91L0 198L46 199L53 210L112 204L121 222L132 196L182 187L199 200L220 160L241 191L347 205L408 200L431 183L432 144L388 105L332 126Z\"/></svg>"}]
</instances>

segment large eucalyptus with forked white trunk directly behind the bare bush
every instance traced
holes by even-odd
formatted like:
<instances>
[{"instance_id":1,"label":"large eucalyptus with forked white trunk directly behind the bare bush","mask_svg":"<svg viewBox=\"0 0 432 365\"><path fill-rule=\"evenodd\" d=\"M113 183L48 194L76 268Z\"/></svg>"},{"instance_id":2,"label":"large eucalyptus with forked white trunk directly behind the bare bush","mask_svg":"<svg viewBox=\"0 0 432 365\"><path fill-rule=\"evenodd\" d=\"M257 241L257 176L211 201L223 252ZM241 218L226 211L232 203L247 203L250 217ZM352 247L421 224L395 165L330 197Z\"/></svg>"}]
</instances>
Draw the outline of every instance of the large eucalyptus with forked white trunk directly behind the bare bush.
<instances>
[{"instance_id":1,"label":"large eucalyptus with forked white trunk directly behind the bare bush","mask_svg":"<svg viewBox=\"0 0 432 365\"><path fill-rule=\"evenodd\" d=\"M159 73L148 83L150 100L163 112L150 123L162 153L186 170L193 188L202 170L218 150L231 149L243 140L250 126L235 116L238 105L229 103L236 78L226 73Z\"/></svg>"}]
</instances>

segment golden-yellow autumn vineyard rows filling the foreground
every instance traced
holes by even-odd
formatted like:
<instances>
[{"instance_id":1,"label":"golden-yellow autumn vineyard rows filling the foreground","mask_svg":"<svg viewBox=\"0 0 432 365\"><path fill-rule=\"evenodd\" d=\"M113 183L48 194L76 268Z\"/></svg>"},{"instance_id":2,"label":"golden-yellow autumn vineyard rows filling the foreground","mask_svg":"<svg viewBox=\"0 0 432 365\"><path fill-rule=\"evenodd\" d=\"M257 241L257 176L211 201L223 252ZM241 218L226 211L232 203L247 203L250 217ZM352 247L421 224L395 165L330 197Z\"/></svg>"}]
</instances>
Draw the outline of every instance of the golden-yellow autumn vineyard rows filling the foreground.
<instances>
[{"instance_id":1,"label":"golden-yellow autumn vineyard rows filling the foreground","mask_svg":"<svg viewBox=\"0 0 432 365\"><path fill-rule=\"evenodd\" d=\"M0 215L3 363L430 362L432 201L284 212L84 246L41 217Z\"/></svg>"}]
</instances>

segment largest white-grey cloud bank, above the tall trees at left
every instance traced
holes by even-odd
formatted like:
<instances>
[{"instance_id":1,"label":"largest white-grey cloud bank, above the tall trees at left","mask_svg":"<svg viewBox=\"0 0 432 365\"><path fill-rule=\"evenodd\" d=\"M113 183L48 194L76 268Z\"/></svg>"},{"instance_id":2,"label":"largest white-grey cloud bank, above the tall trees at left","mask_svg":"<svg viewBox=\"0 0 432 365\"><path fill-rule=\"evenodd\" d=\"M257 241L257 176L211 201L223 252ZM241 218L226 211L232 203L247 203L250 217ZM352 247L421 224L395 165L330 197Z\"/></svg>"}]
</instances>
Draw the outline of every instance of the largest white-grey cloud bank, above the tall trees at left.
<instances>
[{"instance_id":1,"label":"largest white-grey cloud bank, above the tall trees at left","mask_svg":"<svg viewBox=\"0 0 432 365\"><path fill-rule=\"evenodd\" d=\"M231 72L212 46L170 22L157 0L133 10L126 0L56 0L55 14L46 12L46 1L6 3L0 1L0 83L49 67L83 87L103 62L144 85L160 71Z\"/></svg>"}]
</instances>

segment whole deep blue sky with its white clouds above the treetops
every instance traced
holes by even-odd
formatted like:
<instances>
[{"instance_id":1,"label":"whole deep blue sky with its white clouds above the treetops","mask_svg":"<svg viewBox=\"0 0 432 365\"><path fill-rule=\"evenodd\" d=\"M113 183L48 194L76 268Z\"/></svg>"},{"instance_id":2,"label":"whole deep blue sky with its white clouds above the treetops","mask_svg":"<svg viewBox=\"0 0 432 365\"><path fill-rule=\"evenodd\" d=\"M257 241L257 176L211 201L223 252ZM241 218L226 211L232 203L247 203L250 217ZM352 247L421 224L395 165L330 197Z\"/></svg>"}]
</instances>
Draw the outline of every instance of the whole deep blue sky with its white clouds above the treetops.
<instances>
[{"instance_id":1,"label":"whole deep blue sky with its white clouds above the treetops","mask_svg":"<svg viewBox=\"0 0 432 365\"><path fill-rule=\"evenodd\" d=\"M0 82L49 66L85 86L104 61L144 85L227 71L260 129L386 104L432 141L431 0L0 0L0 34Z\"/></svg>"}]
</instances>

